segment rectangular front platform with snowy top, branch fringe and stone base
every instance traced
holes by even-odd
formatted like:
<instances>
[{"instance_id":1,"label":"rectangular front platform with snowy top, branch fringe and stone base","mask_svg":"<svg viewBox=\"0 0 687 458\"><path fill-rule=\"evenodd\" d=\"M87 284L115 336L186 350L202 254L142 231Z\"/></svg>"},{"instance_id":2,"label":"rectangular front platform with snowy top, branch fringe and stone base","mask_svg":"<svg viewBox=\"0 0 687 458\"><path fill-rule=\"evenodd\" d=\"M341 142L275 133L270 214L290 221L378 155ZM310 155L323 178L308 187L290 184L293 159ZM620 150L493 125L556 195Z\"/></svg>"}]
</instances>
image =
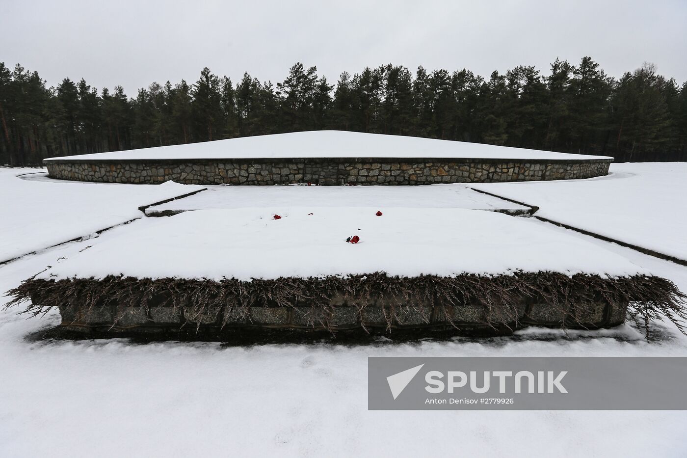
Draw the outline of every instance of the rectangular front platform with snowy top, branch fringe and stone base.
<instances>
[{"instance_id":1,"label":"rectangular front platform with snowy top, branch fringe and stone base","mask_svg":"<svg viewBox=\"0 0 687 458\"><path fill-rule=\"evenodd\" d=\"M14 290L70 329L512 332L623 323L675 285L527 218L281 207L144 219ZM356 235L359 243L347 243Z\"/></svg>"}]
</instances>

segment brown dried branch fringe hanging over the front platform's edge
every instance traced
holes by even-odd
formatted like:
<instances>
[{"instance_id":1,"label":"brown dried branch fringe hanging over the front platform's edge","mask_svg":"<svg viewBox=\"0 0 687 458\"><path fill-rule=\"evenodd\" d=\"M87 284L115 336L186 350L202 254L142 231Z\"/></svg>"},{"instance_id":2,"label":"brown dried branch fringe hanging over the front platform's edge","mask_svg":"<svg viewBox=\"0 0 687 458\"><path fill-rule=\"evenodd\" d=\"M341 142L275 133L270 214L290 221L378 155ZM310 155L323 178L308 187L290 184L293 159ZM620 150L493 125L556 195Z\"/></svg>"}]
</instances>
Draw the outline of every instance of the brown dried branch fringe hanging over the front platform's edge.
<instances>
[{"instance_id":1,"label":"brown dried branch fringe hanging over the front platform's edge","mask_svg":"<svg viewBox=\"0 0 687 458\"><path fill-rule=\"evenodd\" d=\"M500 276L408 278L375 272L346 277L253 281L108 276L102 280L28 279L8 294L14 298L5 309L28 301L30 304L22 313L30 316L45 314L60 305L63 309L83 310L115 304L144 307L148 312L150 307L192 307L197 315L216 307L221 310L222 326L230 316L248 316L249 307L311 307L308 323L331 329L323 317L343 303L359 311L369 305L385 304L382 310L387 329L403 315L421 314L418 308L422 305L439 309L442 319L453 326L457 325L448 312L451 307L481 307L484 313L480 324L488 327L519 326L523 303L545 305L552 311L562 312L566 318L561 320L560 327L565 327L565 321L570 323L571 319L584 326L576 312L584 304L602 301L613 310L630 305L629 319L642 322L647 340L651 323L668 318L685 333L687 320L686 296L675 284L658 276L644 275L602 278L587 274L517 272ZM363 329L366 324L363 320Z\"/></svg>"}]
</instances>

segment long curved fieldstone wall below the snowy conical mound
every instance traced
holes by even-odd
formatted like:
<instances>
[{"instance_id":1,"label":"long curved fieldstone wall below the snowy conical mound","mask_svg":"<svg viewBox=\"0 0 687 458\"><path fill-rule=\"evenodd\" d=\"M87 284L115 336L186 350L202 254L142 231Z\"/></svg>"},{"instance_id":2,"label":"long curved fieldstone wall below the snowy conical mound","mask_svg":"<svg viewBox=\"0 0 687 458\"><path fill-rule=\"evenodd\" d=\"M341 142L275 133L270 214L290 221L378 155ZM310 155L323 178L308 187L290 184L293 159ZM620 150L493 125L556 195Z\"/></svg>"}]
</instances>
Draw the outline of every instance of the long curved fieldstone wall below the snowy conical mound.
<instances>
[{"instance_id":1,"label":"long curved fieldstone wall below the snowy conical mound","mask_svg":"<svg viewBox=\"0 0 687 458\"><path fill-rule=\"evenodd\" d=\"M607 175L611 159L488 160L311 158L251 160L51 160L49 176L85 182L271 185L523 182Z\"/></svg>"}]
</instances>

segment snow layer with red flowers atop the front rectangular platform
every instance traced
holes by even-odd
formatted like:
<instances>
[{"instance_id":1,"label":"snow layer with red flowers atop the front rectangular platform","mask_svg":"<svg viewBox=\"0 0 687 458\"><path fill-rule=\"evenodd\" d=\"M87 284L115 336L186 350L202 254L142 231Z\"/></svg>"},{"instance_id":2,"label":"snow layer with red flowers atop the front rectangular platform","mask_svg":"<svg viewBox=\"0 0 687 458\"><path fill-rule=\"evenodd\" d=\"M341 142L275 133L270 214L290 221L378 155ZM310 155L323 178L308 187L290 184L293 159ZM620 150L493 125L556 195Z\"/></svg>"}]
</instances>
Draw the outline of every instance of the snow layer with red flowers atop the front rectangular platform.
<instances>
[{"instance_id":1,"label":"snow layer with red flowers atop the front rectangular platform","mask_svg":"<svg viewBox=\"0 0 687 458\"><path fill-rule=\"evenodd\" d=\"M501 275L515 271L648 274L618 254L542 223L460 208L198 210L111 232L37 278L109 275L278 279L384 271L390 275ZM383 215L376 216L377 210ZM357 235L359 243L346 243Z\"/></svg>"}]
</instances>

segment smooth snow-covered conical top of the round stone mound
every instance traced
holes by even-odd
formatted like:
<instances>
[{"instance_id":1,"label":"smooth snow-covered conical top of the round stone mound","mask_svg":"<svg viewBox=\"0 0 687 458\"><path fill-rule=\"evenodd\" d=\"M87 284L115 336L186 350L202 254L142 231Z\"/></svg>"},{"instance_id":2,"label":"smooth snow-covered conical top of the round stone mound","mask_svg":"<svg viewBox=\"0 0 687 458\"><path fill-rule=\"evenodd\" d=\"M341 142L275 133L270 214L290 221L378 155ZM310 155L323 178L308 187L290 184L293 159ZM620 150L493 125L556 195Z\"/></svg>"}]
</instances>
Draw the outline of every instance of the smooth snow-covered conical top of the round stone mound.
<instances>
[{"instance_id":1,"label":"smooth snow-covered conical top of the round stone mound","mask_svg":"<svg viewBox=\"0 0 687 458\"><path fill-rule=\"evenodd\" d=\"M202 159L275 159L306 157L431 157L488 160L611 160L612 157L554 153L534 149L493 146L481 143L453 142L402 135L381 135L348 131L308 131L258 135L157 146L154 148L113 151L111 153L50 157L44 162L82 160L202 160Z\"/></svg>"}]
</instances>

